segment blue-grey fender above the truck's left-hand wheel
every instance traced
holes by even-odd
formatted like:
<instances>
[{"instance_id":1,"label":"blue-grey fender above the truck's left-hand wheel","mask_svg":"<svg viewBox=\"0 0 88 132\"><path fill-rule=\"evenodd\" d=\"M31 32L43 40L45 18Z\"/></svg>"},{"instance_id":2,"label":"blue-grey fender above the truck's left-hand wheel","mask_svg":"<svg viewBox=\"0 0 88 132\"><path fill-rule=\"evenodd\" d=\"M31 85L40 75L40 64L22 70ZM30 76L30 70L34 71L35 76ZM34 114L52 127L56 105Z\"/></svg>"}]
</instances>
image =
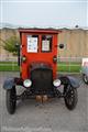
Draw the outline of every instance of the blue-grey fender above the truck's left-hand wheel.
<instances>
[{"instance_id":1,"label":"blue-grey fender above the truck's left-hand wheel","mask_svg":"<svg viewBox=\"0 0 88 132\"><path fill-rule=\"evenodd\" d=\"M3 82L3 89L12 89L12 87L15 86L14 78L8 78Z\"/></svg>"}]
</instances>

